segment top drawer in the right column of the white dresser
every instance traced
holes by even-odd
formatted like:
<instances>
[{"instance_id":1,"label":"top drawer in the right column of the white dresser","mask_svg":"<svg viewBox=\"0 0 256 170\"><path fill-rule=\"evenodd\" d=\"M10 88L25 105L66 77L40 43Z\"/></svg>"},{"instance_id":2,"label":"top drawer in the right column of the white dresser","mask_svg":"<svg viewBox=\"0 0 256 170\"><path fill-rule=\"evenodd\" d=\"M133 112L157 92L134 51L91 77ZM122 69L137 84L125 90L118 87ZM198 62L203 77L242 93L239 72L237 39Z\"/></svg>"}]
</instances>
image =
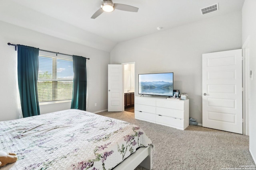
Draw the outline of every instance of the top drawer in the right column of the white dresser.
<instances>
[{"instance_id":1,"label":"top drawer in the right column of the white dresser","mask_svg":"<svg viewBox=\"0 0 256 170\"><path fill-rule=\"evenodd\" d=\"M175 101L175 100L156 100L156 107L164 107L169 109L177 109L184 110L184 102L183 101Z\"/></svg>"}]
</instances>

